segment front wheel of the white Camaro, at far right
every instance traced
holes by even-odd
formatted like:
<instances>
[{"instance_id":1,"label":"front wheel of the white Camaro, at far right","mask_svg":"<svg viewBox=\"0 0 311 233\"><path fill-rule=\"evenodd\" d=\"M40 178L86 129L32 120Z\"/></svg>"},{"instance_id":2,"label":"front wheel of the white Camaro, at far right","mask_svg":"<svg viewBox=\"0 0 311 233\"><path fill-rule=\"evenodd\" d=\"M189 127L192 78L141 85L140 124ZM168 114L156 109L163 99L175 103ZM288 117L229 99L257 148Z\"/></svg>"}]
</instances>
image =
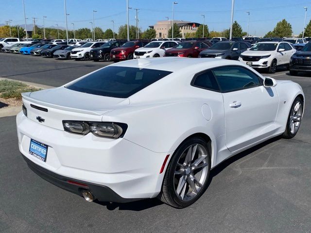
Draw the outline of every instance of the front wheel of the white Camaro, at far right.
<instances>
[{"instance_id":1,"label":"front wheel of the white Camaro, at far right","mask_svg":"<svg viewBox=\"0 0 311 233\"><path fill-rule=\"evenodd\" d=\"M296 135L300 127L302 113L303 100L300 97L296 97L287 119L285 132L282 135L284 138L293 138Z\"/></svg>"}]
</instances>

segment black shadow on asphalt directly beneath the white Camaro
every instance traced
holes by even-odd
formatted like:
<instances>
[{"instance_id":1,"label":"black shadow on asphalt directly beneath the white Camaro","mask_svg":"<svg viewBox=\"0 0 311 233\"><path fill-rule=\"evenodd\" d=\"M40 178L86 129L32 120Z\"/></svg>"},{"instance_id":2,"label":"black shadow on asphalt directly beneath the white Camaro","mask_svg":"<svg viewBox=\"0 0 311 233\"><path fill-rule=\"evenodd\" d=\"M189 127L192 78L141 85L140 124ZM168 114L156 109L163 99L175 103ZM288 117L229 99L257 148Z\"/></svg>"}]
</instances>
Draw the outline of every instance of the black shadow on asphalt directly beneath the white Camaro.
<instances>
[{"instance_id":1,"label":"black shadow on asphalt directly beneath the white Camaro","mask_svg":"<svg viewBox=\"0 0 311 233\"><path fill-rule=\"evenodd\" d=\"M256 145L256 146L254 146L248 150L242 151L241 153L238 153L238 154L228 158L227 160L222 162L220 165L214 167L210 171L209 179L207 182L207 188L208 188L209 184L211 183L213 177L217 176L227 166L229 166L230 164L238 161L239 159L255 152L256 150L259 150L259 149L269 145L270 143L276 142L280 139L281 139L281 136L276 136L274 138L271 138L265 142L260 143L259 145ZM128 203L101 202L98 200L94 200L94 202L97 204L106 206L107 210L115 210L115 209L119 208L119 210L132 210L132 211L146 210L146 209L153 208L155 206L164 204L162 201L160 201L156 198L137 200L137 201L132 201L132 202L128 202Z\"/></svg>"}]
</instances>

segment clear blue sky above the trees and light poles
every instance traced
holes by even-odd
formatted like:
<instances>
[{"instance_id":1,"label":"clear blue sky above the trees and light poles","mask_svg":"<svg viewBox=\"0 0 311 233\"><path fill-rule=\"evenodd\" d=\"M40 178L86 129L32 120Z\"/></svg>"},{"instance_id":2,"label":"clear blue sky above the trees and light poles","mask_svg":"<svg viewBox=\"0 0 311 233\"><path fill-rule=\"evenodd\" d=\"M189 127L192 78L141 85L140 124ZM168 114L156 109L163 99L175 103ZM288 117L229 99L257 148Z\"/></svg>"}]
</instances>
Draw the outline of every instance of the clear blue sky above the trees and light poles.
<instances>
[{"instance_id":1,"label":"clear blue sky above the trees and light poles","mask_svg":"<svg viewBox=\"0 0 311 233\"><path fill-rule=\"evenodd\" d=\"M205 23L209 30L222 31L230 27L231 0L177 0L174 8L174 19ZM12 24L23 24L22 0L0 0L0 24L12 19ZM65 27L64 0L24 0L27 24L36 17L37 24L43 24L46 16L47 27ZM129 0L130 24L135 25L134 8L139 8L139 27L145 30L157 20L172 19L172 0ZM311 18L311 1L307 0L235 0L234 20L237 20L244 31L247 29L247 11L250 11L249 33L263 36L273 30L276 23L286 18L293 26L294 34L303 30L304 6L310 7L307 12L307 23ZM115 30L126 23L126 0L67 0L68 26L72 29L90 27L92 11L95 13L95 25L106 30L112 28L111 20L115 21Z\"/></svg>"}]
</instances>

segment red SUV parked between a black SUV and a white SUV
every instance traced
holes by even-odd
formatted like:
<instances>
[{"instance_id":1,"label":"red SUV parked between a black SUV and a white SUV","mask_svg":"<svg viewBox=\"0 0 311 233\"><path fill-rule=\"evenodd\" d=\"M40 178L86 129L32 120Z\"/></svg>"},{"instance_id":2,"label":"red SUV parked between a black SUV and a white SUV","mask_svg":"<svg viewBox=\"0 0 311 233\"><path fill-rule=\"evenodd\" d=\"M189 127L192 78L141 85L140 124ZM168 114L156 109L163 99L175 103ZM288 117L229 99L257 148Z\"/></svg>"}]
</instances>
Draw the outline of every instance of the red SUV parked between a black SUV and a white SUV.
<instances>
[{"instance_id":1,"label":"red SUV parked between a black SUV and a white SUV","mask_svg":"<svg viewBox=\"0 0 311 233\"><path fill-rule=\"evenodd\" d=\"M110 60L114 62L131 60L133 59L134 51L140 47L144 47L148 43L149 41L139 41L139 40L128 41L121 47L112 49L110 51Z\"/></svg>"}]
</instances>

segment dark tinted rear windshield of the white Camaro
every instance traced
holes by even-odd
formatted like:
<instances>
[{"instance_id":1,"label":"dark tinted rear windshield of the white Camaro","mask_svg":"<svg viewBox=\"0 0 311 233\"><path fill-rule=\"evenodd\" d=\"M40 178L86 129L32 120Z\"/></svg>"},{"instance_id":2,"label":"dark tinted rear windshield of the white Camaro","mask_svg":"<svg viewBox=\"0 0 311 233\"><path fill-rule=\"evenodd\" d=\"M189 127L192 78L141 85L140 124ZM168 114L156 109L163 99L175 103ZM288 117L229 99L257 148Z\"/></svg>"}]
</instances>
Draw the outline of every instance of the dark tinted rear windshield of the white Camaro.
<instances>
[{"instance_id":1,"label":"dark tinted rear windshield of the white Camaro","mask_svg":"<svg viewBox=\"0 0 311 233\"><path fill-rule=\"evenodd\" d=\"M105 67L66 88L98 96L128 98L171 71L135 67Z\"/></svg>"}]
</instances>

